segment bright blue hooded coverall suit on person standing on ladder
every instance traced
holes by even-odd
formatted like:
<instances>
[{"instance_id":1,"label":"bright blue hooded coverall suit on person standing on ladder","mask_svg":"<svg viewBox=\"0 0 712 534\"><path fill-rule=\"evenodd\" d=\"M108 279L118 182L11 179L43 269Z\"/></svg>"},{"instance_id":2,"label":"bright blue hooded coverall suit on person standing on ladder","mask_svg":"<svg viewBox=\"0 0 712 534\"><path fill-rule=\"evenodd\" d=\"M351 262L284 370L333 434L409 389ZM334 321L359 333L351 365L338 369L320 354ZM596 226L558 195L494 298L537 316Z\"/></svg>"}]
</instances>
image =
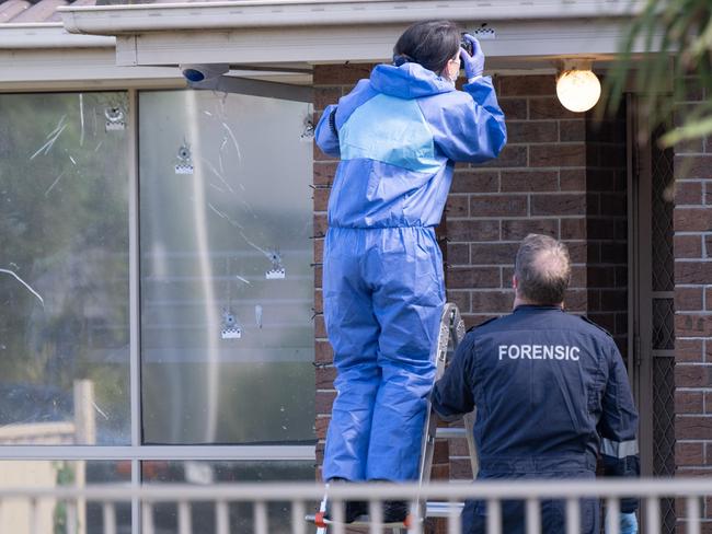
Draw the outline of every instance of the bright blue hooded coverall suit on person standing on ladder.
<instances>
[{"instance_id":1,"label":"bright blue hooded coverall suit on person standing on ladder","mask_svg":"<svg viewBox=\"0 0 712 534\"><path fill-rule=\"evenodd\" d=\"M456 90L418 63L379 65L317 126L341 158L329 199L323 300L337 370L323 477L417 477L445 302L434 227L453 162L506 142L492 81Z\"/></svg>"}]
</instances>

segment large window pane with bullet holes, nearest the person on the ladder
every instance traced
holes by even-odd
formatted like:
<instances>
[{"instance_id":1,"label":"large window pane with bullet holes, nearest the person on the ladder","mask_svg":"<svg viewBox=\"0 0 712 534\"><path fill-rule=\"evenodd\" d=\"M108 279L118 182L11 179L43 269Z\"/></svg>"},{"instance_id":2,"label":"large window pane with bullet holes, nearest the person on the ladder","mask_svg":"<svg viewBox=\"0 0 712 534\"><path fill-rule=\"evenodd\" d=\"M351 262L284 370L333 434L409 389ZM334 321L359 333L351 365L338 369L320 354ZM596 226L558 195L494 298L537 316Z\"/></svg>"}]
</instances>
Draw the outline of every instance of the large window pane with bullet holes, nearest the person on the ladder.
<instances>
[{"instance_id":1,"label":"large window pane with bullet holes, nearest the person on the ladder","mask_svg":"<svg viewBox=\"0 0 712 534\"><path fill-rule=\"evenodd\" d=\"M313 442L308 105L139 103L145 443Z\"/></svg>"}]
</instances>

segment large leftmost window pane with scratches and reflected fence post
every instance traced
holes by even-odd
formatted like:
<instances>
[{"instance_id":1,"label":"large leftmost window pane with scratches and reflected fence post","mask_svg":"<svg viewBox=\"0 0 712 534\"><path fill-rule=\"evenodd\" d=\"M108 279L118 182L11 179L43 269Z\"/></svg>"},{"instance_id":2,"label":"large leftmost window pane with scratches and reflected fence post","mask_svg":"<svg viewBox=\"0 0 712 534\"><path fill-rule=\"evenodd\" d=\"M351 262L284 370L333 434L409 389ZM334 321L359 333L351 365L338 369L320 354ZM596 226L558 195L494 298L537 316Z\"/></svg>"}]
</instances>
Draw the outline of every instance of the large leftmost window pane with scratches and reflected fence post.
<instances>
[{"instance_id":1,"label":"large leftmost window pane with scratches and reflected fence post","mask_svg":"<svg viewBox=\"0 0 712 534\"><path fill-rule=\"evenodd\" d=\"M0 94L0 444L127 444L126 93Z\"/></svg>"}]
</instances>

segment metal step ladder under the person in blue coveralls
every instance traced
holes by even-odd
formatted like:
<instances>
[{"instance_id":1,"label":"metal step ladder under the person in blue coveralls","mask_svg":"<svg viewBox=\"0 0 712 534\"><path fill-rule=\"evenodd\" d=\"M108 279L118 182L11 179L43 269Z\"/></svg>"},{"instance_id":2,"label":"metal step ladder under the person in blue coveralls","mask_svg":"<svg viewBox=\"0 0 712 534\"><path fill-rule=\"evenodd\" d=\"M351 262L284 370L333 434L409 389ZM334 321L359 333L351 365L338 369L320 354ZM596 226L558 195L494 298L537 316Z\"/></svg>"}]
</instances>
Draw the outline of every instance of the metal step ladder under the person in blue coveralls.
<instances>
[{"instance_id":1,"label":"metal step ladder under the person in blue coveralls","mask_svg":"<svg viewBox=\"0 0 712 534\"><path fill-rule=\"evenodd\" d=\"M436 364L435 380L439 380L445 373L448 361L455 355L458 345L464 338L464 322L460 316L460 311L457 305L452 303L445 304L443 315L440 317L440 332L438 335L437 345L435 347L433 359ZM421 462L418 467L418 486L425 486L430 481L430 471L433 468L433 455L435 453L436 439L462 438L468 441L468 452L470 463L472 466L472 476L475 477L479 469L478 451L474 443L474 436L472 427L474 425L474 415L467 414L463 417L464 428L448 428L438 427L438 416L433 409L429 399L427 406L427 415L423 428L423 441L421 443ZM335 524L334 521L324 519L326 511L329 496L329 485L326 486L326 495L321 501L319 512L315 514L307 515L306 520L317 526L317 534L328 534L329 526ZM383 529L389 529L393 534L405 533L415 521L422 522L425 518L448 518L452 513L452 508L461 509L462 503L452 504L450 502L425 502L421 504L421 510L414 514L412 511L404 522L399 523L381 523ZM368 515L360 515L348 526L367 526L371 525L371 518Z\"/></svg>"}]
</instances>

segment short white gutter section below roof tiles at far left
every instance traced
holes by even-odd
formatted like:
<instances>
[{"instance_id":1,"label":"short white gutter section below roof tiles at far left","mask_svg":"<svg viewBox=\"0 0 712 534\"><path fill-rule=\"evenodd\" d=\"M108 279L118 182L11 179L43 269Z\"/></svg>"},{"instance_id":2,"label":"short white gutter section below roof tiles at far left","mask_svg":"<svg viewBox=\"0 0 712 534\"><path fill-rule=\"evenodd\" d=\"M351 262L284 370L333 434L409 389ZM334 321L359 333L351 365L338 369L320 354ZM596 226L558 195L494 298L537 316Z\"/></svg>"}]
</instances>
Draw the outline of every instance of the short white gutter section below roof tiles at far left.
<instances>
[{"instance_id":1,"label":"short white gutter section below roof tiles at far left","mask_svg":"<svg viewBox=\"0 0 712 534\"><path fill-rule=\"evenodd\" d=\"M27 48L114 48L116 39L103 35L67 33L58 23L0 24L0 50Z\"/></svg>"}]
</instances>

